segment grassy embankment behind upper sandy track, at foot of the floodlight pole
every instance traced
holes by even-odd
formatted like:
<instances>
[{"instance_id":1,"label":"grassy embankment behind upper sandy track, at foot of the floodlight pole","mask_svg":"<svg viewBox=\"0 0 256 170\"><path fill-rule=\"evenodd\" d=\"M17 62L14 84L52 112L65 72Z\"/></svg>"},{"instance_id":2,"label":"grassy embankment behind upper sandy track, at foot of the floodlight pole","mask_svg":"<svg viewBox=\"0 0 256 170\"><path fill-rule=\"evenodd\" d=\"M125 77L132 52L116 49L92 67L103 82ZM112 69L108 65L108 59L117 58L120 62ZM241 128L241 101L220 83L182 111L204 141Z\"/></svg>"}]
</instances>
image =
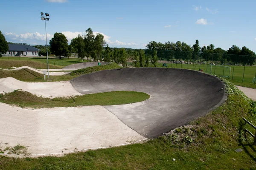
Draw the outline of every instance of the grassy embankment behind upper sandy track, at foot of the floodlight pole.
<instances>
[{"instance_id":1,"label":"grassy embankment behind upper sandy track, at foot of the floodlight pole","mask_svg":"<svg viewBox=\"0 0 256 170\"><path fill-rule=\"evenodd\" d=\"M96 71L116 69L116 68L121 68L121 67L116 63L111 63L108 65L99 65L99 66L79 69L79 70L73 71L70 74L66 74L62 76L50 76L50 79L52 81L65 81L65 80L70 80L75 77L78 77L81 74L89 74ZM6 77L13 77L15 79L18 79L20 81L25 81L25 82L47 82L47 80L44 80L43 74L37 73L27 68L17 70L17 71L6 71L6 70L0 69L0 78L6 78Z\"/></svg>"}]
</instances>

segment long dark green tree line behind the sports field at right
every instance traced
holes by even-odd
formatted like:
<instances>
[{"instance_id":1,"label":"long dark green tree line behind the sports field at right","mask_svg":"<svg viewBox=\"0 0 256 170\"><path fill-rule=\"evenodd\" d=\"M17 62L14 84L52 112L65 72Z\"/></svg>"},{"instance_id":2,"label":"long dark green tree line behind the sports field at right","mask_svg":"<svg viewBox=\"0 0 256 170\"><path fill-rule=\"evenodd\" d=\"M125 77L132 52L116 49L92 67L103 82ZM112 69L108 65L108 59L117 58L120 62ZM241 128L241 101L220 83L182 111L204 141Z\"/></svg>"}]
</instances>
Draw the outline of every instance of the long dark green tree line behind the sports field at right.
<instances>
[{"instance_id":1,"label":"long dark green tree line behind the sports field at right","mask_svg":"<svg viewBox=\"0 0 256 170\"><path fill-rule=\"evenodd\" d=\"M234 64L242 63L252 65L255 62L256 55L247 47L239 48L232 45L227 51L222 48L215 48L213 44L200 47L199 41L190 46L186 42L161 42L151 41L146 45L145 54L151 56L153 59L154 53L157 53L159 59L172 60L182 59L186 61L191 60L212 60L233 62Z\"/></svg>"}]
</instances>

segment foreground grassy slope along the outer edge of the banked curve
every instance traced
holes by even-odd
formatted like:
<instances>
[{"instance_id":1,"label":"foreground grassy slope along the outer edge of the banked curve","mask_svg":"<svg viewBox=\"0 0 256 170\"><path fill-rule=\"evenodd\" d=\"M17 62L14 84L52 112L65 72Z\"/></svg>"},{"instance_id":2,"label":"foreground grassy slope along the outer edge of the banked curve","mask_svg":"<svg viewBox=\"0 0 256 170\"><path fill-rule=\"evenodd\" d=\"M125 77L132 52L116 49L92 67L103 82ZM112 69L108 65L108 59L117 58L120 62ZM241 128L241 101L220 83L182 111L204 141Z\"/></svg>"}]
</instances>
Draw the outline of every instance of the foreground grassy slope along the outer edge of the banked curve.
<instances>
[{"instance_id":1,"label":"foreground grassy slope along the outer edge of the banked curve","mask_svg":"<svg viewBox=\"0 0 256 170\"><path fill-rule=\"evenodd\" d=\"M15 159L0 156L0 169L255 169L256 147L243 136L241 118L256 124L255 102L227 82L229 93L221 107L143 144L132 144L63 157ZM251 129L250 129L251 130ZM237 153L235 149L242 148ZM172 161L175 158L176 161Z\"/></svg>"}]
</instances>

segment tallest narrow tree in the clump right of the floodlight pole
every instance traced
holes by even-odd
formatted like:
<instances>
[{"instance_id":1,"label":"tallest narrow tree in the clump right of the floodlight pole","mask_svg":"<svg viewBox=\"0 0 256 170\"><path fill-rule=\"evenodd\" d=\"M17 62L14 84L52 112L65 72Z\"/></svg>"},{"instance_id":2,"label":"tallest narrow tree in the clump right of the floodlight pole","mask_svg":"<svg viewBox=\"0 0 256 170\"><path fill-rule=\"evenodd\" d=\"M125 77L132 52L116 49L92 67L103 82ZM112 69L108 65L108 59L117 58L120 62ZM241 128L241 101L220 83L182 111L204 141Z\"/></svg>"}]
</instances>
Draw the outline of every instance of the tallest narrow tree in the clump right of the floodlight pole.
<instances>
[{"instance_id":1,"label":"tallest narrow tree in the clump right of the floodlight pole","mask_svg":"<svg viewBox=\"0 0 256 170\"><path fill-rule=\"evenodd\" d=\"M84 49L85 49L86 55L88 57L91 57L92 52L95 50L94 48L95 36L93 35L93 30L91 28L88 28L85 32L86 32L86 35L84 35Z\"/></svg>"}]
</instances>

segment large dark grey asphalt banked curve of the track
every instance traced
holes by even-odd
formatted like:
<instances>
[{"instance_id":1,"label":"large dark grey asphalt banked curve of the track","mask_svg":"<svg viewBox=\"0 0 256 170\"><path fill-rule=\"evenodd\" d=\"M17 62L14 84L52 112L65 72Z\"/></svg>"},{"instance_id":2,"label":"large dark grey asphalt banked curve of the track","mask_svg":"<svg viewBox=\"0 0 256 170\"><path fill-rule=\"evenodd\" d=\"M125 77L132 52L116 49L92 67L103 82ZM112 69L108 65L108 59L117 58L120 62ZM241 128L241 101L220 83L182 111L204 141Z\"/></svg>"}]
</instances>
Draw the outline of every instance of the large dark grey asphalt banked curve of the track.
<instances>
[{"instance_id":1,"label":"large dark grey asphalt banked curve of the track","mask_svg":"<svg viewBox=\"0 0 256 170\"><path fill-rule=\"evenodd\" d=\"M140 135L160 136L221 105L227 95L220 79L175 68L123 68L85 74L70 81L81 94L141 91L151 98L104 106Z\"/></svg>"}]
</instances>

